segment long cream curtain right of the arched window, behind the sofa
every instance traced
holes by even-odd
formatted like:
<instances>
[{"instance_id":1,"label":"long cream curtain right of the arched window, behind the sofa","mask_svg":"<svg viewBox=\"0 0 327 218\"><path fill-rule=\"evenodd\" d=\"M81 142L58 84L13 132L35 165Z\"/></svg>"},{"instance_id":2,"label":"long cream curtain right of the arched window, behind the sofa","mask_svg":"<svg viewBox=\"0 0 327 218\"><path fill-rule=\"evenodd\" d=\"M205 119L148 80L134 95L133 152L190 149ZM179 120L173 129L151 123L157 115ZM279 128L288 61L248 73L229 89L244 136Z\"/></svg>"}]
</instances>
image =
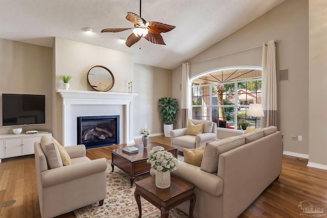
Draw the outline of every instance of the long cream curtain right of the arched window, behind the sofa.
<instances>
[{"instance_id":1,"label":"long cream curtain right of the arched window, behind the sofa","mask_svg":"<svg viewBox=\"0 0 327 218\"><path fill-rule=\"evenodd\" d=\"M277 127L276 48L274 40L263 43L262 53L262 108L261 128Z\"/></svg>"}]
</instances>

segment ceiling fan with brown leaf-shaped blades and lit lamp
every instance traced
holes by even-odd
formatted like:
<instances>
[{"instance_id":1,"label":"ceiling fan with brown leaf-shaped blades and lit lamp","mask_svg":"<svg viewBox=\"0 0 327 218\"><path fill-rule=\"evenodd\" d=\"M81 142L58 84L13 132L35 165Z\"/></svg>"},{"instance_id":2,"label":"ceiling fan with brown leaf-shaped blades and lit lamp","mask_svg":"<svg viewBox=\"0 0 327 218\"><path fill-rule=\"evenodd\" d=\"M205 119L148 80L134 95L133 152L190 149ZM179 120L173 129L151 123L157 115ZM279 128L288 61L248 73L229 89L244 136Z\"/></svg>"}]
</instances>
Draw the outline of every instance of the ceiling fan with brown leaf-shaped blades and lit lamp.
<instances>
[{"instance_id":1,"label":"ceiling fan with brown leaf-shaped blades and lit lamp","mask_svg":"<svg viewBox=\"0 0 327 218\"><path fill-rule=\"evenodd\" d=\"M138 42L142 37L154 44L165 45L166 43L164 39L162 39L160 33L167 33L175 28L175 26L165 23L156 21L147 22L143 19L141 17L141 0L139 0L139 16L132 12L128 12L126 19L134 23L134 28L109 28L102 30L101 33L118 33L125 30L133 30L133 33L129 35L125 42L128 47Z\"/></svg>"}]
</instances>

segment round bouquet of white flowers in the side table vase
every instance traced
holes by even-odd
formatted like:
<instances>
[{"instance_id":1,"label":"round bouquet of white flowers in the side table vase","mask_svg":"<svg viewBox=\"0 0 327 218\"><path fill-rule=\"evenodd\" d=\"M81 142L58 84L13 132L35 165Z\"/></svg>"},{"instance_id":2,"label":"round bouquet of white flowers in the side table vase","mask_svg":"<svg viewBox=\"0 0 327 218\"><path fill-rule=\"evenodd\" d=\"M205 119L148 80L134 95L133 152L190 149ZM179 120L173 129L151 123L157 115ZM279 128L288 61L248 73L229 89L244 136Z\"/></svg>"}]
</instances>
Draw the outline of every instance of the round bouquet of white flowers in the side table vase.
<instances>
[{"instance_id":1,"label":"round bouquet of white flowers in the side table vase","mask_svg":"<svg viewBox=\"0 0 327 218\"><path fill-rule=\"evenodd\" d=\"M175 171L178 165L177 158L172 153L162 151L160 148L162 147L156 146L152 148L149 152L147 163L150 163L151 167L157 171Z\"/></svg>"}]
</instances>

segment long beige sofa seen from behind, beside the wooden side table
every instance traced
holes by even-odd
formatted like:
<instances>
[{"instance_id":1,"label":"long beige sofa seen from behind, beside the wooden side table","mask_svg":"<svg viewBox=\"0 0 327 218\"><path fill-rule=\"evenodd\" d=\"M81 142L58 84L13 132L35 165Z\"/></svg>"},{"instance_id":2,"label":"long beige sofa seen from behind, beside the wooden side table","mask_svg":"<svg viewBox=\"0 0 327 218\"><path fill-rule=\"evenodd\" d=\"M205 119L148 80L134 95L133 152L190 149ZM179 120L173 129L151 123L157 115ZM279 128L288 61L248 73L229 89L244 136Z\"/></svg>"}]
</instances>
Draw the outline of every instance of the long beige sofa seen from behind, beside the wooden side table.
<instances>
[{"instance_id":1,"label":"long beige sofa seen from behind, beside the wooden side table","mask_svg":"<svg viewBox=\"0 0 327 218\"><path fill-rule=\"evenodd\" d=\"M282 152L281 132L268 127L208 142L201 167L179 161L172 174L196 186L195 218L237 217L281 174Z\"/></svg>"}]
</instances>

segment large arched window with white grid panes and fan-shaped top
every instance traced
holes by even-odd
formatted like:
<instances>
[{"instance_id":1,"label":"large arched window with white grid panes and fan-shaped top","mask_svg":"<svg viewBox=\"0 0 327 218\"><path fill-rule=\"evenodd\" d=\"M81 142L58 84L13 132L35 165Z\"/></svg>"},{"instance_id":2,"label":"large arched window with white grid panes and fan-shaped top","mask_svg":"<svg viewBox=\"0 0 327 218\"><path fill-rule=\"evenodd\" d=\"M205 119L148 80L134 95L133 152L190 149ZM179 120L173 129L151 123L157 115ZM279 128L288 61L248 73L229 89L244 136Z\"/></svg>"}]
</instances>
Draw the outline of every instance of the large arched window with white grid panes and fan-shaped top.
<instances>
[{"instance_id":1,"label":"large arched window with white grid panes and fan-shaped top","mask_svg":"<svg viewBox=\"0 0 327 218\"><path fill-rule=\"evenodd\" d=\"M191 82L192 119L212 120L229 129L260 127L260 117L247 115L249 104L261 103L259 67L212 71Z\"/></svg>"}]
</instances>

